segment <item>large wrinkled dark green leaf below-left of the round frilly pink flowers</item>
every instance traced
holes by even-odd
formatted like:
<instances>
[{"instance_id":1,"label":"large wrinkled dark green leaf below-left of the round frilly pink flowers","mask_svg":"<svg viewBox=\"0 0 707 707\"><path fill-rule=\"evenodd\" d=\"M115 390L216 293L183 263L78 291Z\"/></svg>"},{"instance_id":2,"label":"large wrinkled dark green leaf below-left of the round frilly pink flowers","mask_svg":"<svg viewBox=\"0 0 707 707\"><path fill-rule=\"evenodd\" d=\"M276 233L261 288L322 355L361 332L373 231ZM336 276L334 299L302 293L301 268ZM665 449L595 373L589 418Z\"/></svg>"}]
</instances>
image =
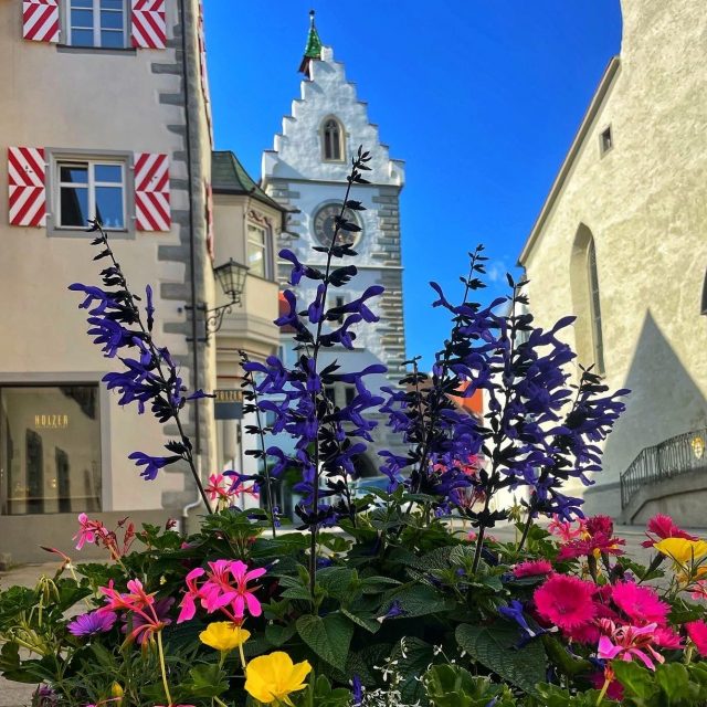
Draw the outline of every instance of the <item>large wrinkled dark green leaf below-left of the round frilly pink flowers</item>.
<instances>
[{"instance_id":1,"label":"large wrinkled dark green leaf below-left of the round frilly pink flowers","mask_svg":"<svg viewBox=\"0 0 707 707\"><path fill-rule=\"evenodd\" d=\"M475 661L531 695L545 680L547 656L539 641L517 648L518 629L499 621L490 626L462 624L456 641Z\"/></svg>"}]
</instances>

